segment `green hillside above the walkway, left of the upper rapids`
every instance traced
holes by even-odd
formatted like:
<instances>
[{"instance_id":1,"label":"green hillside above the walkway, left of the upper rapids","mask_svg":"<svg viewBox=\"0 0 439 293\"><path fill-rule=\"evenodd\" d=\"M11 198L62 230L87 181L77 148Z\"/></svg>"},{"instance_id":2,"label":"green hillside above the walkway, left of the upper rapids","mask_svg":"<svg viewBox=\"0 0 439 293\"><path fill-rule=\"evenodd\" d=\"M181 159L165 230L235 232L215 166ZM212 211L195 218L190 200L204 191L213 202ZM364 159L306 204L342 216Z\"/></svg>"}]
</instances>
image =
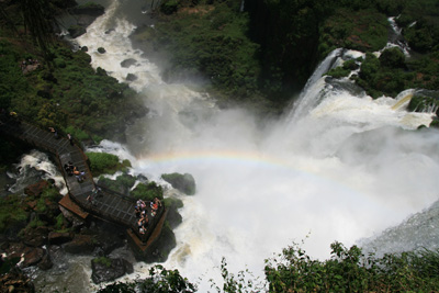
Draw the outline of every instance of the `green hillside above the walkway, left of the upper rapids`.
<instances>
[{"instance_id":1,"label":"green hillside above the walkway, left of the upper rapids","mask_svg":"<svg viewBox=\"0 0 439 293\"><path fill-rule=\"evenodd\" d=\"M48 9L53 4L60 3L23 0L0 4L1 11L14 15L13 21L0 21L0 106L42 127L76 129L77 139L123 140L126 121L146 110L127 84L103 69L94 71L87 53L72 52L54 38L47 29L54 22L56 9Z\"/></svg>"}]
</instances>

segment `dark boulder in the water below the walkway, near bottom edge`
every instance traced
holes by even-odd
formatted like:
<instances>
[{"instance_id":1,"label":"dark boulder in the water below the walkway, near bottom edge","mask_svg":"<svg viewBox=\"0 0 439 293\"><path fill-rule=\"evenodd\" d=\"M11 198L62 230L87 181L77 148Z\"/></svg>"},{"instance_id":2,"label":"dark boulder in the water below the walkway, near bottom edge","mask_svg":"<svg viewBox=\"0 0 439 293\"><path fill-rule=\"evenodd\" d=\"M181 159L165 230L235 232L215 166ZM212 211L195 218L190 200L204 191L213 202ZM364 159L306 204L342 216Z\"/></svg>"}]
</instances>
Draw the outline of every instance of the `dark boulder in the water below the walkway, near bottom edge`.
<instances>
[{"instance_id":1,"label":"dark boulder in the water below the walkway, near bottom edge","mask_svg":"<svg viewBox=\"0 0 439 293\"><path fill-rule=\"evenodd\" d=\"M113 281L134 271L133 264L125 259L97 258L91 260L91 280L93 283Z\"/></svg>"}]
</instances>

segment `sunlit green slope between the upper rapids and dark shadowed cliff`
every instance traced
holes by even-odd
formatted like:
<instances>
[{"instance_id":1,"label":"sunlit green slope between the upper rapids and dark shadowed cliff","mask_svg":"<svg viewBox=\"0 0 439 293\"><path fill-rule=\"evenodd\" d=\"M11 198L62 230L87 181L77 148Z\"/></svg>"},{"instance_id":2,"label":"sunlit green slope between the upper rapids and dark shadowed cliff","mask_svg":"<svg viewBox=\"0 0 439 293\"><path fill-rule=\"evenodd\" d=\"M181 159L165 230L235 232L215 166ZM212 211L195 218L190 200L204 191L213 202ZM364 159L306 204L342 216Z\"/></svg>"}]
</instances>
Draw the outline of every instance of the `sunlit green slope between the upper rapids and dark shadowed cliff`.
<instances>
[{"instance_id":1,"label":"sunlit green slope between the upper rapids and dark shadowed cliff","mask_svg":"<svg viewBox=\"0 0 439 293\"><path fill-rule=\"evenodd\" d=\"M154 29L143 27L134 35L146 52L160 47L169 53L165 78L172 81L202 76L223 100L258 99L259 45L247 35L249 18L239 13L239 2L198 1L188 7L182 1L166 1L161 10L172 13L177 2L178 13L171 19L161 18Z\"/></svg>"}]
</instances>

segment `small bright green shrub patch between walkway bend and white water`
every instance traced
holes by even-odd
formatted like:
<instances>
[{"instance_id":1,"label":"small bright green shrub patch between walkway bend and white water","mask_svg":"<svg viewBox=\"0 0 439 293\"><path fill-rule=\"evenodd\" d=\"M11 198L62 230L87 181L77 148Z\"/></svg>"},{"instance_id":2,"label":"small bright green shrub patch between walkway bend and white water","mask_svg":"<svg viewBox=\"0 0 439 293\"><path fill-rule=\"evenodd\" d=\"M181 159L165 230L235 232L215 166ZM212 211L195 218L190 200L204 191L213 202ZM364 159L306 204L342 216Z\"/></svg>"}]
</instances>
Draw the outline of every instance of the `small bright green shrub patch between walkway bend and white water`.
<instances>
[{"instance_id":1,"label":"small bright green shrub patch between walkway bend and white water","mask_svg":"<svg viewBox=\"0 0 439 293\"><path fill-rule=\"evenodd\" d=\"M116 171L126 171L131 167L130 160L120 159L116 155L106 153L87 151L87 157L90 160L90 171L94 177L100 174L114 174Z\"/></svg>"}]
</instances>

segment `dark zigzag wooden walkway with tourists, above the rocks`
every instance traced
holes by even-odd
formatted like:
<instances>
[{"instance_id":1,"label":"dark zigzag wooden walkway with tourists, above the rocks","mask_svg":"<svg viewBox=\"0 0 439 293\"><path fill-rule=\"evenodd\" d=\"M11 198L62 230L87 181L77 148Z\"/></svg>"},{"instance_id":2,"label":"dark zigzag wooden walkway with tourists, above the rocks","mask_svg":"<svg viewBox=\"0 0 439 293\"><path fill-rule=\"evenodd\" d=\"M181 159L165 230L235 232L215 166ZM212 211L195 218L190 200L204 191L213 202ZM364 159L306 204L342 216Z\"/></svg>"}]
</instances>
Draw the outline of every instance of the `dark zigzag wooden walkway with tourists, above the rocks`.
<instances>
[{"instance_id":1,"label":"dark zigzag wooden walkway with tourists, above the rocks","mask_svg":"<svg viewBox=\"0 0 439 293\"><path fill-rule=\"evenodd\" d=\"M5 133L7 135L26 142L27 144L33 145L36 148L49 151L56 156L59 165L58 169L63 173L67 189L69 191L69 198L66 198L64 199L64 201L60 202L63 206L67 207L69 204L71 204L68 202L69 199L71 199L87 213L131 228L131 234L134 233L135 235L137 235L140 243L146 244L153 240L149 239L148 241L148 238L153 235L154 229L160 222L161 217L165 216L165 207L160 207L157 211L156 216L153 217L149 203L147 203L149 228L146 234L139 234L137 227L137 218L134 212L136 200L130 196L125 196L123 194L119 194L115 191L106 190L104 188L101 188L101 191L98 194L93 194L93 190L97 188L97 184L93 181L92 174L87 164L87 157L83 154L82 149L79 148L77 145L71 145L67 138L57 138L49 131L44 131L23 121L2 121L0 125L0 131ZM78 182L75 176L68 176L63 168L63 166L65 166L65 164L68 164L69 161L71 161L79 171L86 172L82 182ZM87 201L87 198L89 195L94 195L91 203ZM87 216L87 213L82 213L81 215Z\"/></svg>"}]
</instances>

